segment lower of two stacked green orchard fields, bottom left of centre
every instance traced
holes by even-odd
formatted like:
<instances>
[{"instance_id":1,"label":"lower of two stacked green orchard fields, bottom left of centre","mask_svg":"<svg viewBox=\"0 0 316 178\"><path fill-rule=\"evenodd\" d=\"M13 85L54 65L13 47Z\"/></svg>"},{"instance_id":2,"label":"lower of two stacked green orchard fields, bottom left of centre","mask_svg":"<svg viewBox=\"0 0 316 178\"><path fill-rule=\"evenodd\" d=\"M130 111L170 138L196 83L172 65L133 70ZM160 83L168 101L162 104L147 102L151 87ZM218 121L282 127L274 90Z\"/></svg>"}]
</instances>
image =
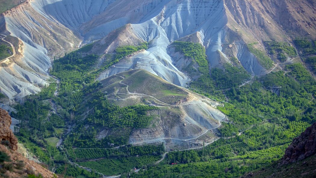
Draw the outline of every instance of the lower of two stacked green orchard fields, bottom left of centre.
<instances>
[{"instance_id":1,"label":"lower of two stacked green orchard fields, bottom left of centre","mask_svg":"<svg viewBox=\"0 0 316 178\"><path fill-rule=\"evenodd\" d=\"M132 168L147 167L160 159L160 156L131 156L119 159L101 159L98 161L77 162L79 165L91 168L105 175L128 173Z\"/></svg>"}]
</instances>

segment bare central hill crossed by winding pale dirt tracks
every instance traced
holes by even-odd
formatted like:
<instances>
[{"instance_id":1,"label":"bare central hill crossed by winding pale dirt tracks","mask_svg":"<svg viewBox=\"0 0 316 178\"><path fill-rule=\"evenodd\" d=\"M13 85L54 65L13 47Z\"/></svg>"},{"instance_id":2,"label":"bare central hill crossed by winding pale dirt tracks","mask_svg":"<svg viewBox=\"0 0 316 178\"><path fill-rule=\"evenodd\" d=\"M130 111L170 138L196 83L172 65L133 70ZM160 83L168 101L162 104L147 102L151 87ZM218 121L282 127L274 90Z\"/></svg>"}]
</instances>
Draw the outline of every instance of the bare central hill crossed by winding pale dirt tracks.
<instances>
[{"instance_id":1,"label":"bare central hill crossed by winding pale dirt tracks","mask_svg":"<svg viewBox=\"0 0 316 178\"><path fill-rule=\"evenodd\" d=\"M130 70L101 80L108 99L121 106L156 105L146 129L134 130L130 143L165 142L169 148L201 146L216 138L216 128L225 119L216 102L170 84L146 70Z\"/></svg>"}]
</instances>

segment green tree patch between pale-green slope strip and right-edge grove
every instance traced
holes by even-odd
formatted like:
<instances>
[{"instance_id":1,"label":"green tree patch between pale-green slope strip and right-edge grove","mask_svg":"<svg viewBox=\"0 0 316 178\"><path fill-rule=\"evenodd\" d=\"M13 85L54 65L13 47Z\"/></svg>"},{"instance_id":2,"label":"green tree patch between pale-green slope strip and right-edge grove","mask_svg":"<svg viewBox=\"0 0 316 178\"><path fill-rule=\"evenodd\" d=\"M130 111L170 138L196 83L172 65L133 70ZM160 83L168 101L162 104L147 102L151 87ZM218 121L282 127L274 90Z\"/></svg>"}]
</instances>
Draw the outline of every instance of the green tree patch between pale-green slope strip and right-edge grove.
<instances>
[{"instance_id":1,"label":"green tree patch between pale-green slope strip and right-edge grove","mask_svg":"<svg viewBox=\"0 0 316 178\"><path fill-rule=\"evenodd\" d=\"M269 54L276 55L277 59L284 62L288 57L297 56L295 48L286 42L264 41Z\"/></svg>"}]
</instances>

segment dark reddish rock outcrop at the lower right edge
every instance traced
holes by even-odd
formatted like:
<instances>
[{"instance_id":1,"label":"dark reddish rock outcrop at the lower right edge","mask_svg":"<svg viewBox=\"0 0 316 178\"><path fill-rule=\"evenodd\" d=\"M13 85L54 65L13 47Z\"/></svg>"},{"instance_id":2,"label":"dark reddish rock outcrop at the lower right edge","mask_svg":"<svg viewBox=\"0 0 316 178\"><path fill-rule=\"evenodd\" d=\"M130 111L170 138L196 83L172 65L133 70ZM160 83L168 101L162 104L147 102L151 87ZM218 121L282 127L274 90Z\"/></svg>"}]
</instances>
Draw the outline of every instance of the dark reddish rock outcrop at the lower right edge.
<instances>
[{"instance_id":1,"label":"dark reddish rock outcrop at the lower right edge","mask_svg":"<svg viewBox=\"0 0 316 178\"><path fill-rule=\"evenodd\" d=\"M305 159L316 153L316 123L308 127L299 137L295 138L285 150L282 164Z\"/></svg>"}]
</instances>

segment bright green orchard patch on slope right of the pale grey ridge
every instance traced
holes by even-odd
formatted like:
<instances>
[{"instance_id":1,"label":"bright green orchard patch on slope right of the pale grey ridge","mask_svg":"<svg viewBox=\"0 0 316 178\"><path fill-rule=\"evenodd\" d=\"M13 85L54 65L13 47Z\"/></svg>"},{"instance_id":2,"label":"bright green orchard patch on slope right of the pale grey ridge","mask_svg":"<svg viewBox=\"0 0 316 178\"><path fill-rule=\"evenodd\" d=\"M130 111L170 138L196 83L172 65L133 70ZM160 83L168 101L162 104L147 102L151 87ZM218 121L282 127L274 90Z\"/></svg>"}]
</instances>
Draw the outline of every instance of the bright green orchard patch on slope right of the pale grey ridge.
<instances>
[{"instance_id":1,"label":"bright green orchard patch on slope right of the pale grey ridge","mask_svg":"<svg viewBox=\"0 0 316 178\"><path fill-rule=\"evenodd\" d=\"M190 57L193 62L196 62L201 73L209 72L209 64L206 60L204 46L200 43L184 41L174 41L172 44L175 46L176 51L182 52L186 57Z\"/></svg>"}]
</instances>

